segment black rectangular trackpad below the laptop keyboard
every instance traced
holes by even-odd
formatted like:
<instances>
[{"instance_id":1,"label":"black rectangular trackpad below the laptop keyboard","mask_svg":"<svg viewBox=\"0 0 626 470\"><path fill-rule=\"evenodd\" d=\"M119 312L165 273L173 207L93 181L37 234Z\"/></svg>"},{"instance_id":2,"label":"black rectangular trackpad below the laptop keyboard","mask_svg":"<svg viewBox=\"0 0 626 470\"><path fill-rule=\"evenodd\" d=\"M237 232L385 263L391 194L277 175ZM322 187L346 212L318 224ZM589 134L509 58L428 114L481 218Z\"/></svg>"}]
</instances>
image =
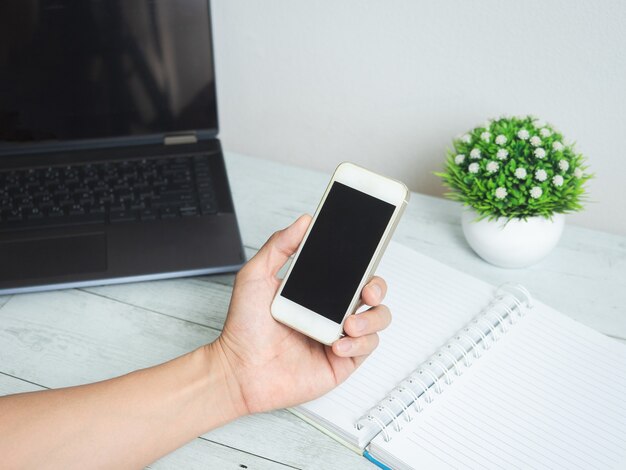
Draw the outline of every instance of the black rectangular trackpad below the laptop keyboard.
<instances>
[{"instance_id":1,"label":"black rectangular trackpad below the laptop keyboard","mask_svg":"<svg viewBox=\"0 0 626 470\"><path fill-rule=\"evenodd\" d=\"M0 242L0 281L105 271L106 235Z\"/></svg>"}]
</instances>

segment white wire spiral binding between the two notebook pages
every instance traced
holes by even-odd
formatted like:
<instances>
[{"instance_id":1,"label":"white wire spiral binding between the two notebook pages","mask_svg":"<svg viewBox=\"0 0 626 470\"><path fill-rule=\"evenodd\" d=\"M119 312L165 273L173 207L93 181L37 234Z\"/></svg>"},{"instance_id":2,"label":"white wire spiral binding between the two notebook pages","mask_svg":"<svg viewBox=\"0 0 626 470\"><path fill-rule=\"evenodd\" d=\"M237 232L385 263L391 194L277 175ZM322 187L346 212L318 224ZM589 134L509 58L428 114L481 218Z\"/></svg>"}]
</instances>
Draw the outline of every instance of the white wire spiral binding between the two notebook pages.
<instances>
[{"instance_id":1,"label":"white wire spiral binding between the two notebook pages","mask_svg":"<svg viewBox=\"0 0 626 470\"><path fill-rule=\"evenodd\" d=\"M471 367L532 307L532 296L524 286L502 284L487 307L359 418L356 429L374 426L382 433L385 442L389 442L390 427L393 431L401 431L402 421L410 422L414 418L411 409L420 413L432 403L453 383L454 377Z\"/></svg>"}]
</instances>

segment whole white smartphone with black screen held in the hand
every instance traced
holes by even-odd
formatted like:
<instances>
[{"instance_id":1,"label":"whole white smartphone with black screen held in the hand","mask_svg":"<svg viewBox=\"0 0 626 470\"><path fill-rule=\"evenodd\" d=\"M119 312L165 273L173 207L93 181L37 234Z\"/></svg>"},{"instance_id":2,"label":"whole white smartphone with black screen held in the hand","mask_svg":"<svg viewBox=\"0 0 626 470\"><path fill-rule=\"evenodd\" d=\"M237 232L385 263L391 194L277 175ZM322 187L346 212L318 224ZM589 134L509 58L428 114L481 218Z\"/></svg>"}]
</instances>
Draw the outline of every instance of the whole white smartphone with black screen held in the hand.
<instances>
[{"instance_id":1,"label":"whole white smartphone with black screen held in the hand","mask_svg":"<svg viewBox=\"0 0 626 470\"><path fill-rule=\"evenodd\" d=\"M399 181L340 164L274 297L272 316L321 343L339 339L409 194Z\"/></svg>"}]
</instances>

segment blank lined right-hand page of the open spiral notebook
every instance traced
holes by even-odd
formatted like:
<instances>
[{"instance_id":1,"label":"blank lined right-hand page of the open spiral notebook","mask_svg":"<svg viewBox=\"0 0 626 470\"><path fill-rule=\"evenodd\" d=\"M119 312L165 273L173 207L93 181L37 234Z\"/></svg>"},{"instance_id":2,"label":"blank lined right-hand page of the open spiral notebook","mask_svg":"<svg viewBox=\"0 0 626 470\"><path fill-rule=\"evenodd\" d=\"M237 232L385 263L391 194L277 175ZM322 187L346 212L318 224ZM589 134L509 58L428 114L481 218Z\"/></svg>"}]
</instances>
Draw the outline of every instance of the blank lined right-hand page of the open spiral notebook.
<instances>
[{"instance_id":1,"label":"blank lined right-hand page of the open spiral notebook","mask_svg":"<svg viewBox=\"0 0 626 470\"><path fill-rule=\"evenodd\" d=\"M626 347L538 303L390 435L416 468L625 468Z\"/></svg>"}]
</instances>

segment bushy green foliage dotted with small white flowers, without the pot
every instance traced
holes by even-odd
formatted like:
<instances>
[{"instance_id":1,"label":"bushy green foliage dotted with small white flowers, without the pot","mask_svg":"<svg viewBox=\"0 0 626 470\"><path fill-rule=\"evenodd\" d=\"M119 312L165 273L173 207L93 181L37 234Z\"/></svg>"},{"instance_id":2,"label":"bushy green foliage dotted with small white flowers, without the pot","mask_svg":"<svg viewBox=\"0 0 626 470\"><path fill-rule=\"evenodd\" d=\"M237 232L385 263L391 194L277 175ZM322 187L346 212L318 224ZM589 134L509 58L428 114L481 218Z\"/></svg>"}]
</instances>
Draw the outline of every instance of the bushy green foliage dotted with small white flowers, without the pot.
<instances>
[{"instance_id":1,"label":"bushy green foliage dotted with small white flowers, without the pot","mask_svg":"<svg viewBox=\"0 0 626 470\"><path fill-rule=\"evenodd\" d=\"M447 197L478 218L526 219L583 208L585 158L551 125L532 116L489 120L454 139L436 173Z\"/></svg>"}]
</instances>

